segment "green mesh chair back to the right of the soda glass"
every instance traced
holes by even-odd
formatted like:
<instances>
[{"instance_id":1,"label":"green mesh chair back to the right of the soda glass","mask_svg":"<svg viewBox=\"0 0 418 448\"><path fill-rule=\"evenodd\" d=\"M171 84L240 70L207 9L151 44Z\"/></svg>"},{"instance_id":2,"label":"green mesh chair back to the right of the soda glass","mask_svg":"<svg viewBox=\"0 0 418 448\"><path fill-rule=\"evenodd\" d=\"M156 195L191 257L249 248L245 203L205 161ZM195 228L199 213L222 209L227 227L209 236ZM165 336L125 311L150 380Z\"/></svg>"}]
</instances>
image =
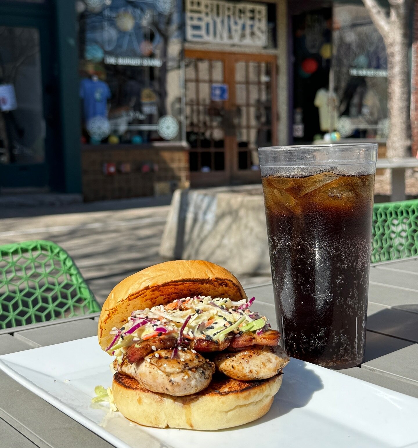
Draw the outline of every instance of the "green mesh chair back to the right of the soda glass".
<instances>
[{"instance_id":1,"label":"green mesh chair back to the right of the soda glass","mask_svg":"<svg viewBox=\"0 0 418 448\"><path fill-rule=\"evenodd\" d=\"M418 255L418 199L373 207L371 263Z\"/></svg>"}]
</instances>

